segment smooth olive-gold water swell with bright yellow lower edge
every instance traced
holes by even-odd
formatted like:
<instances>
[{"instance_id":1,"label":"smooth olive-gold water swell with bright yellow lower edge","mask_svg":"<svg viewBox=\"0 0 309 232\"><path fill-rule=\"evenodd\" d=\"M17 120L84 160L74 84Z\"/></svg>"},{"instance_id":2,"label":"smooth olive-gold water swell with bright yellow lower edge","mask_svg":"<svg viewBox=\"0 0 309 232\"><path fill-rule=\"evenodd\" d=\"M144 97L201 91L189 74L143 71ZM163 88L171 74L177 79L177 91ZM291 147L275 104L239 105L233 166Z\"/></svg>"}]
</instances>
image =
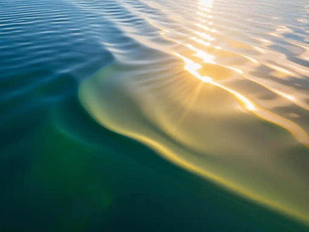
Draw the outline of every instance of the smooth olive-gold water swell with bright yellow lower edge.
<instances>
[{"instance_id":1,"label":"smooth olive-gold water swell with bright yellow lower edge","mask_svg":"<svg viewBox=\"0 0 309 232\"><path fill-rule=\"evenodd\" d=\"M140 74L113 64L84 81L80 101L104 127L145 143L187 170L308 222L309 173L303 164L309 161L309 150L284 128L297 131L296 124L277 122L275 116L267 119L279 126L261 120L258 109L246 109L233 90L180 69Z\"/></svg>"}]
</instances>

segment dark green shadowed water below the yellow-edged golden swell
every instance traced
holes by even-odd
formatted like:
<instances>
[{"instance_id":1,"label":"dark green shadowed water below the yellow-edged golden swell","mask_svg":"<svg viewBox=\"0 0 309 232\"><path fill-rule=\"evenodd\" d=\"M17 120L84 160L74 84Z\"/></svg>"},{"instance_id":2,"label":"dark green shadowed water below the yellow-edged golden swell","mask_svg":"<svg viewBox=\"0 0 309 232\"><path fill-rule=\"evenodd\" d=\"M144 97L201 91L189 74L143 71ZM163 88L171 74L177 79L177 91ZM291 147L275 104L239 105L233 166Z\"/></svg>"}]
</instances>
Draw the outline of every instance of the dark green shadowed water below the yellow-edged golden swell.
<instances>
[{"instance_id":1,"label":"dark green shadowed water below the yellow-edged golden swell","mask_svg":"<svg viewBox=\"0 0 309 232\"><path fill-rule=\"evenodd\" d=\"M2 120L1 231L306 231L101 127L70 76L57 88Z\"/></svg>"}]
</instances>

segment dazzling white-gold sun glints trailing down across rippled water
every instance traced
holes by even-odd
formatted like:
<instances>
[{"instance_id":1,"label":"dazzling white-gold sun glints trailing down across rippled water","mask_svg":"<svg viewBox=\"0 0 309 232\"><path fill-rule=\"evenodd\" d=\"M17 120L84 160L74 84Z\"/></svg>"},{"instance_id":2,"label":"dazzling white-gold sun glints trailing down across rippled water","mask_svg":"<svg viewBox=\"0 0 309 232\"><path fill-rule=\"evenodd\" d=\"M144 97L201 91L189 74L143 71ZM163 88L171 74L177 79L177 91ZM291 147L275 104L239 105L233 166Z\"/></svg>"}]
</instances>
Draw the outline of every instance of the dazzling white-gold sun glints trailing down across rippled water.
<instances>
[{"instance_id":1,"label":"dazzling white-gold sun glints trailing down across rippled water","mask_svg":"<svg viewBox=\"0 0 309 232\"><path fill-rule=\"evenodd\" d=\"M200 1L200 5L202 6L198 6L198 8L202 11L206 11L206 12L211 12L211 8L212 8L212 4L213 4L213 0L211 1L208 1L208 0L201 0ZM204 18L208 18L209 15L207 13L201 13L200 11L197 11L197 14L198 15L201 15L203 16ZM205 21L201 18L197 18L200 22L204 23ZM195 25L198 27L198 28L202 28L204 29L205 31L209 31L209 32L216 32L214 29L212 28L209 28L209 27L206 27L204 24L202 23L196 23ZM278 33L281 32L282 30L277 30ZM214 37L211 37L210 35L208 35L207 33L205 32L194 32L195 34L199 35L200 37L202 37L203 39L205 40L208 40L210 42L205 42L204 40L202 39L198 39L197 37L190 37L190 39L192 39L193 41L195 42L198 42L202 45L205 45L205 46L210 46L211 45L211 41L215 40ZM162 34L163 35L163 34ZM265 39L261 39L259 38L259 40L263 43L267 43L267 44L271 44L270 41L268 40L265 40ZM193 56L195 57L198 57L198 58L201 58L202 59L202 62L204 63L209 63L209 64L216 64L216 62L214 61L214 58L215 56L214 55L210 55L208 54L206 51L203 51L202 49L199 49L191 44L183 44L181 43L180 41L174 41L174 42L177 42L181 45L184 45L186 47L188 47L189 49L195 51L195 54L193 54ZM239 42L237 41L232 41L233 43L237 43L237 44L240 44ZM245 45L247 46L247 45ZM265 51L259 47L254 47L252 46L252 48L262 52L262 53L265 53ZM216 49L220 49L220 47L216 47ZM192 75L194 75L197 79L200 79L202 82L206 82L206 83L210 83L210 84L213 84L215 86L218 86L224 90L226 90L227 92L230 92L231 94L233 94L236 99L238 99L239 101L242 102L243 106L249 110L249 111L255 111L254 114L256 114L258 117L260 118L263 118L264 120L266 121L269 121L269 122L273 122L283 128L285 128L287 131L289 131L295 138L298 139L298 141L302 142L304 145L307 146L307 144L309 144L308 142L308 135L307 135L307 132L305 130L303 130L302 127L298 126L296 123L286 119L286 118L283 118L279 115L276 115L268 110L264 110L262 108L257 108L257 106L253 103L253 101L249 100L248 97L245 97L243 94L240 94L239 92L236 92L235 90L232 90L231 88L228 88L226 86L223 86L221 84L218 84L217 82L215 82L216 79L221 79L219 76L224 73L224 69L223 68L228 68L232 71L236 71L238 74L244 74L244 72L242 70L240 70L239 68L236 68L236 67L231 67L231 66L222 66L221 67L221 71L217 72L216 75L214 76L205 76L205 75L201 75L200 74L200 71L202 70L202 67L203 67L203 64L202 63L197 63L197 62L194 62L192 59L189 59L188 57L185 57L183 55L180 55L179 53L175 52L175 51L171 51L171 54L174 54L178 57L180 57L184 62L185 62L185 65L184 65L184 69L187 70L189 73L191 73ZM251 58L249 56L246 56L246 55L240 55L248 60L250 60L251 62L255 63L255 64L258 64L259 62L254 59L254 58ZM270 64L267 64L267 66L269 67L273 67L275 68L276 70L278 71L281 71L281 72L286 72L286 73L289 73L289 74L292 74L290 73L289 71L287 70L284 70L280 67L277 67L277 66L273 66L273 65L270 65ZM208 67L209 70L213 69L213 67ZM214 73L214 72L212 72ZM229 76L224 76L225 78L226 77L229 77ZM269 89L270 91L278 94L279 96L281 97L284 97L286 98L287 100L289 101L293 101L295 102L296 104L298 104L296 102L296 99L295 97L285 93L285 92L282 92L282 91L279 91L279 90L276 90L276 89L273 89L273 88L269 88L265 85L263 85L265 88ZM298 104L299 105L299 104ZM304 106L301 106L301 107L304 107ZM305 108L305 107L304 107Z\"/></svg>"}]
</instances>

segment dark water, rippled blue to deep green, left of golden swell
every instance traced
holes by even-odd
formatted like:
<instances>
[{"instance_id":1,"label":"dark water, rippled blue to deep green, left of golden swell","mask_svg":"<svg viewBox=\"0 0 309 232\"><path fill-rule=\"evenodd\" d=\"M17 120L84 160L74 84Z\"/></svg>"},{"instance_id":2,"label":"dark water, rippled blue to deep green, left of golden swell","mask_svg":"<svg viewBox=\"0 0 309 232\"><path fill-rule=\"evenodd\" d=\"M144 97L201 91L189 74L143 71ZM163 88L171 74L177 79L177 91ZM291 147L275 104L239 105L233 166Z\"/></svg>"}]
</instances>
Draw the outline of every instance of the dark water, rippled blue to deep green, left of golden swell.
<instances>
[{"instance_id":1,"label":"dark water, rippled blue to deep green, left of golden swell","mask_svg":"<svg viewBox=\"0 0 309 232\"><path fill-rule=\"evenodd\" d=\"M130 19L135 11L121 4L0 2L0 231L308 231L102 127L84 110L78 96L85 79L116 61L147 70L146 57L155 56L106 16ZM145 37L154 31L146 28Z\"/></svg>"}]
</instances>

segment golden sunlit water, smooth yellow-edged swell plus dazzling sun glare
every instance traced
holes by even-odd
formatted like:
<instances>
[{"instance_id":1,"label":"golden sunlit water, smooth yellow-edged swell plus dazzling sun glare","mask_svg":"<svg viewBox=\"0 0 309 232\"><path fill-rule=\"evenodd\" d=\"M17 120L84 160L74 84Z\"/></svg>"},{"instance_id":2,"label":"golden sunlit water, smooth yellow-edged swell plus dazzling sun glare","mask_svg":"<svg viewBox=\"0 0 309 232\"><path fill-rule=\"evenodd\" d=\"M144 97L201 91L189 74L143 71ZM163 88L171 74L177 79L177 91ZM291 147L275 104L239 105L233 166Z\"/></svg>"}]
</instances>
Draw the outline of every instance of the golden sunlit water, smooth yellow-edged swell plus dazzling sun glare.
<instances>
[{"instance_id":1,"label":"golden sunlit water, smooth yellow-edged swell plus dazzling sun glare","mask_svg":"<svg viewBox=\"0 0 309 232\"><path fill-rule=\"evenodd\" d=\"M297 123L263 108L248 92L236 91L226 84L245 78L260 84L249 79L246 65L257 67L261 57L235 54L225 51L224 45L215 44L218 32L213 28L213 16L209 15L213 3L199 2L195 30L190 30L193 36L180 38L180 33L150 22L161 30L165 40L177 45L161 50L180 58L184 66L144 75L115 68L108 72L111 78L100 78L107 75L100 74L94 77L94 84L91 80L85 82L81 101L105 127L147 144L189 171L309 223L308 178L284 160L288 149L296 159L301 157L296 153L308 144L307 132ZM277 34L282 30L277 30ZM173 38L175 35L177 39ZM268 58L271 53L264 47L271 41L260 42L261 46L249 46L229 40L229 45L250 48ZM223 63L225 58L241 58L242 62L234 67ZM278 65L266 66L294 74ZM148 68L151 67L145 67ZM101 82L103 89L92 91ZM297 97L287 91L266 84L260 86L297 104ZM208 159L210 156L214 158Z\"/></svg>"}]
</instances>

